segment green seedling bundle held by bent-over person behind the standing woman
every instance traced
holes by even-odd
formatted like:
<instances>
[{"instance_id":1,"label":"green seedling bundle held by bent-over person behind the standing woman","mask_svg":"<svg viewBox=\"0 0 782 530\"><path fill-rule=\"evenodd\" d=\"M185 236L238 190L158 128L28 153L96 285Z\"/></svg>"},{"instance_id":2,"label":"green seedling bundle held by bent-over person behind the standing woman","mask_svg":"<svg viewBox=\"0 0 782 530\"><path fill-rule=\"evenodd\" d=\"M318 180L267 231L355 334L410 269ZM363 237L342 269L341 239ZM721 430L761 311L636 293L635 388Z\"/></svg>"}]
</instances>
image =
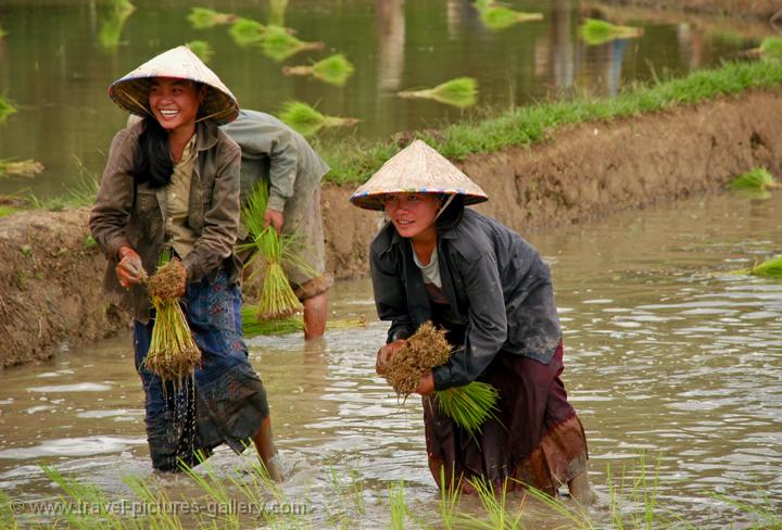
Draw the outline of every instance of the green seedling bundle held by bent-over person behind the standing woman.
<instances>
[{"instance_id":1,"label":"green seedling bundle held by bent-over person behind the standing woman","mask_svg":"<svg viewBox=\"0 0 782 530\"><path fill-rule=\"evenodd\" d=\"M303 310L282 269L282 260L294 258L291 242L280 237L273 226L264 226L267 203L268 188L261 184L255 187L242 209L242 222L252 237L252 242L239 247L240 251L254 251L245 266L249 267L257 257L264 261L264 279L255 313L258 321L282 320ZM249 279L252 279L255 273L257 270L253 272Z\"/></svg>"}]
</instances>

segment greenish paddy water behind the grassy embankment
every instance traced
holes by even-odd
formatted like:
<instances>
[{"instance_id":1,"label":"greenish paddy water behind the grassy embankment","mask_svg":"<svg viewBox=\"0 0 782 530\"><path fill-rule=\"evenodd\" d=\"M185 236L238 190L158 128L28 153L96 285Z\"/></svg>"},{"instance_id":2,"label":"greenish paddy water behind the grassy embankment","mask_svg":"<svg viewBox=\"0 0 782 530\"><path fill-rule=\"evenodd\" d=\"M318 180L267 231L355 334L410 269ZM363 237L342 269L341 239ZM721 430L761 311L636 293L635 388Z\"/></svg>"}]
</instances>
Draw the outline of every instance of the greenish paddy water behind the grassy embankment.
<instances>
[{"instance_id":1,"label":"greenish paddy water behind the grassy embankment","mask_svg":"<svg viewBox=\"0 0 782 530\"><path fill-rule=\"evenodd\" d=\"M548 96L616 94L636 80L682 75L732 59L757 46L761 33L733 33L701 22L665 21L655 12L615 16L644 28L643 37L586 46L578 36L582 15L606 16L588 2L570 0L504 3L540 12L543 20L507 28L487 26L472 0L231 0L201 2L260 22L294 28L321 51L283 61L258 47L239 46L225 26L194 29L189 0L5 0L0 2L0 96L18 112L0 122L0 159L35 159L46 172L30 180L0 179L0 193L31 190L38 198L84 187L100 175L114 134L126 114L106 97L118 77L171 47L207 41L210 66L242 106L273 114L295 99L329 115L361 119L350 131L387 138L401 130L458 119L462 109L431 100L396 97L402 90L434 87L470 76L479 83L479 106L529 104ZM195 2L199 4L199 2ZM287 5L287 9L273 9ZM324 21L328 20L328 24ZM744 33L747 35L747 33ZM282 66L306 65L344 53L355 73L343 87L283 75Z\"/></svg>"}]
</instances>

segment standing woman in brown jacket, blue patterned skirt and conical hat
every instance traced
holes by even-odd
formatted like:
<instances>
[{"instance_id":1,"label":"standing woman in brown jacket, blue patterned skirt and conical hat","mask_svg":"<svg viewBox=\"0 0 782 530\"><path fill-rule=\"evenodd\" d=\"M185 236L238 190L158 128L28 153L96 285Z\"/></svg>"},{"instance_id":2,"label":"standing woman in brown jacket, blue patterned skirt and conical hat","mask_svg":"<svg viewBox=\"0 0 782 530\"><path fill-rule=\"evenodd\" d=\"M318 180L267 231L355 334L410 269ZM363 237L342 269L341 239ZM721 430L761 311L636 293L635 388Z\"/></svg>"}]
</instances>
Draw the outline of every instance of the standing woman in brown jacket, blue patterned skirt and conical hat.
<instances>
[{"instance_id":1,"label":"standing woman in brown jacket, blue patterned skirt and conical hat","mask_svg":"<svg viewBox=\"0 0 782 530\"><path fill-rule=\"evenodd\" d=\"M197 452L227 443L239 453L252 440L279 480L266 391L248 362L239 313L240 150L218 128L236 117L237 100L186 47L151 59L109 94L143 119L114 137L89 223L109 260L104 288L134 315L152 465L177 470L179 460L197 464ZM155 315L141 281L164 250L180 260L175 287L201 351L181 387L144 364Z\"/></svg>"}]
</instances>

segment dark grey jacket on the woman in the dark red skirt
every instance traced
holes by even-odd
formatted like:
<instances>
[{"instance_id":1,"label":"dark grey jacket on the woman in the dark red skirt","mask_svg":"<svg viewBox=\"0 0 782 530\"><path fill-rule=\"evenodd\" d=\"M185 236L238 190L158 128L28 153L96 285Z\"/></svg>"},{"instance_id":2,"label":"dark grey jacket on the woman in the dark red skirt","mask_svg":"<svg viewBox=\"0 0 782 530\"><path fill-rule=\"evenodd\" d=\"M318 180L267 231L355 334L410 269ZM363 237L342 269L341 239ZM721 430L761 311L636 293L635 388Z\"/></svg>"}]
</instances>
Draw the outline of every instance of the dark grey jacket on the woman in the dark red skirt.
<instances>
[{"instance_id":1,"label":"dark grey jacket on the woman in the dark red skirt","mask_svg":"<svg viewBox=\"0 0 782 530\"><path fill-rule=\"evenodd\" d=\"M433 370L434 388L474 381L497 353L547 364L562 331L548 266L521 237L470 209L438 236L442 290L466 326L465 343ZM391 320L388 341L407 338L431 318L429 299L413 249L391 223L370 248L375 302Z\"/></svg>"}]
</instances>

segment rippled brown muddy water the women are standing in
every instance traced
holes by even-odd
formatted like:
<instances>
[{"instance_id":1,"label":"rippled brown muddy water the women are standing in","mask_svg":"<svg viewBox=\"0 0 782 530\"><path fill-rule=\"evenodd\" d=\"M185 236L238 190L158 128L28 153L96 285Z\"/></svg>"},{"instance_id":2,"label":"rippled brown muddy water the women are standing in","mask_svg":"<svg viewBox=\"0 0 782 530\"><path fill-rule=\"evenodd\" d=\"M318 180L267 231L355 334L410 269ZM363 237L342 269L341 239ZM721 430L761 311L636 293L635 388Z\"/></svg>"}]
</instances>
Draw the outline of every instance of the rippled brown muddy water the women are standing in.
<instances>
[{"instance_id":1,"label":"rippled brown muddy water the women are standing in","mask_svg":"<svg viewBox=\"0 0 782 530\"><path fill-rule=\"evenodd\" d=\"M527 235L551 262L565 328L565 379L590 440L592 480L607 501L608 469L638 476L644 455L657 505L696 527L742 515L714 495L782 499L782 283L724 273L782 252L782 194L686 200L604 222ZM316 528L333 501L329 467L363 478L366 528L388 522L388 488L437 509L420 405L401 405L374 375L384 326L369 282L340 282L333 318L366 328L250 340L270 396L292 499L310 499ZM54 495L48 463L127 497L122 476L149 477L142 394L128 336L3 373L0 488L16 500ZM229 451L217 472L247 466ZM181 479L164 479L188 491ZM469 506L469 505L468 505ZM531 520L550 519L533 512ZM542 515L541 515L542 514ZM605 508L592 512L606 521Z\"/></svg>"}]
</instances>

